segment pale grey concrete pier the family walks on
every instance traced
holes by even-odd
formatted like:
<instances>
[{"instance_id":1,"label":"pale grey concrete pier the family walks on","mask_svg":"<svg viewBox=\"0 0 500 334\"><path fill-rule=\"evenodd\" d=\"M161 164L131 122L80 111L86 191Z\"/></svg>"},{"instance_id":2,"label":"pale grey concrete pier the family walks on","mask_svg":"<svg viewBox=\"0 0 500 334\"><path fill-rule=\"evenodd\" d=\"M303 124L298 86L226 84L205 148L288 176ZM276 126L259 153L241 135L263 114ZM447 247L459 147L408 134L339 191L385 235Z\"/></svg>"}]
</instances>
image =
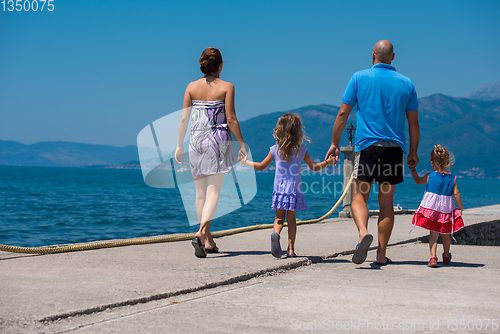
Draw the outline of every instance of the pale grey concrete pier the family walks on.
<instances>
[{"instance_id":1,"label":"pale grey concrete pier the family walks on","mask_svg":"<svg viewBox=\"0 0 500 334\"><path fill-rule=\"evenodd\" d=\"M374 263L376 250L350 261L357 229L344 218L299 226L298 257L288 259L271 256L271 230L218 238L221 253L205 259L189 241L0 252L0 332L457 333L465 323L475 327L463 332L499 333L500 248L452 244L443 266L438 245L440 267L428 268L418 240L428 232L408 234L411 218L396 216L387 266ZM498 219L500 205L464 211L466 226ZM285 228L283 249L286 239Z\"/></svg>"}]
</instances>

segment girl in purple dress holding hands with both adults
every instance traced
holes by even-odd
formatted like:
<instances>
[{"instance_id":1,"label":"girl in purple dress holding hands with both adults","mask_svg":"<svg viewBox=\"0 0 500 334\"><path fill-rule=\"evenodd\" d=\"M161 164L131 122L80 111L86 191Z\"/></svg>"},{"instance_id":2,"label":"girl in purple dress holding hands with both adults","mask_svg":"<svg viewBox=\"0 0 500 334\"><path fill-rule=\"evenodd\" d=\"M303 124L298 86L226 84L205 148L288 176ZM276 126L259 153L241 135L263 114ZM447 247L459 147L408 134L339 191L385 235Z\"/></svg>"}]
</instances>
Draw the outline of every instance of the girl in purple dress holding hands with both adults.
<instances>
[{"instance_id":1,"label":"girl in purple dress holding hands with both adults","mask_svg":"<svg viewBox=\"0 0 500 334\"><path fill-rule=\"evenodd\" d=\"M302 192L300 178L301 162L305 161L313 171L321 170L333 163L329 161L314 163L307 149L302 146L306 139L302 131L302 122L299 115L288 113L281 116L273 131L276 144L262 162L252 162L243 159L243 164L257 170L263 170L276 160L276 174L271 208L276 210L273 233L271 234L271 254L281 258L280 233L283 223L288 222L288 251L287 257L297 256L294 252L297 224L295 212L307 210L306 200Z\"/></svg>"}]
</instances>

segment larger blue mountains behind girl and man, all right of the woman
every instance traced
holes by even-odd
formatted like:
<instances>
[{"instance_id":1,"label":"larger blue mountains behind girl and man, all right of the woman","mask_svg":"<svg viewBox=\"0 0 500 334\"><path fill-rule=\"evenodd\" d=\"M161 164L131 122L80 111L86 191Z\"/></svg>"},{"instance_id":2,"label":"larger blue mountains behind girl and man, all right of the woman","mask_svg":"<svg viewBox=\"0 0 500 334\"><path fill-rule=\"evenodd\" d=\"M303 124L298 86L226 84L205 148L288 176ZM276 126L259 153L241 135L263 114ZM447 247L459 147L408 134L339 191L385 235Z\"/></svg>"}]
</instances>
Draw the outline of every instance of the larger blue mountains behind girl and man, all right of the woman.
<instances>
[{"instance_id":1,"label":"larger blue mountains behind girl and man, all right of the woman","mask_svg":"<svg viewBox=\"0 0 500 334\"><path fill-rule=\"evenodd\" d=\"M319 105L288 111L301 116L306 134L311 139L306 146L315 160L323 160L330 146L338 109ZM255 160L264 159L269 147L274 145L272 131L284 113L275 112L240 122L243 138ZM348 121L354 126L355 116L353 111ZM500 100L481 101L435 94L419 99L419 122L419 170L431 169L429 154L434 144L440 143L455 156L456 163L452 167L454 173L472 177L500 177ZM347 145L347 141L344 131L341 146Z\"/></svg>"}]
</instances>

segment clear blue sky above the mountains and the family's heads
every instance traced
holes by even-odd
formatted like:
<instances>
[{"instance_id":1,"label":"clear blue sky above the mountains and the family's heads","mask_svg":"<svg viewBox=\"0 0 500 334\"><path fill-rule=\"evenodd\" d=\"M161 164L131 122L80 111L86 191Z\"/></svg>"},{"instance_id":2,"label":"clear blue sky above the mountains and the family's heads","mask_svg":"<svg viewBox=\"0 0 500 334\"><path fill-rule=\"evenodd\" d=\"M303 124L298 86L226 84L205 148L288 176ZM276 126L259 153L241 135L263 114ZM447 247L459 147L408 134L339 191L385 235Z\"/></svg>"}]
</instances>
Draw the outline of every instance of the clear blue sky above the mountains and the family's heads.
<instances>
[{"instance_id":1,"label":"clear blue sky above the mountains and the family's heads","mask_svg":"<svg viewBox=\"0 0 500 334\"><path fill-rule=\"evenodd\" d=\"M0 7L0 140L135 144L145 125L181 109L208 46L226 61L240 120L340 105L380 39L419 97L500 80L495 0L53 3Z\"/></svg>"}]
</instances>

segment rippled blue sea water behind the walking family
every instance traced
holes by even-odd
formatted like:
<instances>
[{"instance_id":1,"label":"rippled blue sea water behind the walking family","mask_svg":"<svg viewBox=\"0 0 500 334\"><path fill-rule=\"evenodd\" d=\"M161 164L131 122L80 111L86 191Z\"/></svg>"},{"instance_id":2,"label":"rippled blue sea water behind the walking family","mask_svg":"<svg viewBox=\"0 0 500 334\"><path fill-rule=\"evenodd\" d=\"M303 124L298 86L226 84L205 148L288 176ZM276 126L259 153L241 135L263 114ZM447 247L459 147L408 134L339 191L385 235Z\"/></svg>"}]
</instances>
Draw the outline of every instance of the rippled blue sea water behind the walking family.
<instances>
[{"instance_id":1,"label":"rippled blue sea water behind the walking family","mask_svg":"<svg viewBox=\"0 0 500 334\"><path fill-rule=\"evenodd\" d=\"M254 199L214 219L212 231L273 222L274 174L257 173L256 178ZM309 210L297 213L297 218L326 213L341 195L342 179L302 176ZM394 204L416 209L425 186L411 177L405 180L396 188ZM500 203L499 179L462 178L458 185L465 208ZM377 209L376 194L368 204ZM197 229L188 223L179 190L148 187L140 170L0 166L0 244L38 247Z\"/></svg>"}]
</instances>

